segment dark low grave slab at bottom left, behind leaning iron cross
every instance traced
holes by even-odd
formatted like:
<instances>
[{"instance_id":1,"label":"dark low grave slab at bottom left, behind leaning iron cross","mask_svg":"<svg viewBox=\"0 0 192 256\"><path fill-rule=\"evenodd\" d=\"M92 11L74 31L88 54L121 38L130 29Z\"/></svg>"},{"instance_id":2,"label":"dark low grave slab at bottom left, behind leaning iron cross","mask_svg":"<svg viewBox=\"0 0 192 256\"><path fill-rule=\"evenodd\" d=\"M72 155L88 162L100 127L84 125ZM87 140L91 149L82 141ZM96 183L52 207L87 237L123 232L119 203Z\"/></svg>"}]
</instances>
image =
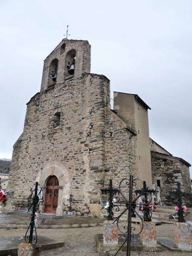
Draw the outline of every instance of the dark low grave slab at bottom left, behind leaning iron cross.
<instances>
[{"instance_id":1,"label":"dark low grave slab at bottom left, behind leaning iron cross","mask_svg":"<svg viewBox=\"0 0 192 256\"><path fill-rule=\"evenodd\" d=\"M0 256L17 256L18 246L24 242L25 241L23 236L0 238ZM42 250L54 249L64 246L63 241L50 239L45 236L38 236L37 243L41 245Z\"/></svg>"}]
</instances>

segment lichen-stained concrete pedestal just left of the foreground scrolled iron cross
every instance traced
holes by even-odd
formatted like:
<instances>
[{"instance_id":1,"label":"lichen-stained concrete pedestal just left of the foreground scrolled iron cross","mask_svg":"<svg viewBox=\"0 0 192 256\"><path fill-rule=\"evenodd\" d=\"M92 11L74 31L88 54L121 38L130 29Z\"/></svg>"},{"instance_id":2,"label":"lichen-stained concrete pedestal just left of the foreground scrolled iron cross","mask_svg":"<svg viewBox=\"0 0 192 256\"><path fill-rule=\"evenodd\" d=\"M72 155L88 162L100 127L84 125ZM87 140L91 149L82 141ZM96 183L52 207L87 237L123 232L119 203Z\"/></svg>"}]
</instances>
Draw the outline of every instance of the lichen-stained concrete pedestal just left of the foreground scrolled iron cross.
<instances>
[{"instance_id":1,"label":"lichen-stained concrete pedestal just left of the foreground scrolled iron cross","mask_svg":"<svg viewBox=\"0 0 192 256\"><path fill-rule=\"evenodd\" d=\"M116 222L113 224L113 221L104 221L103 229L103 244L118 244L118 229Z\"/></svg>"}]
</instances>

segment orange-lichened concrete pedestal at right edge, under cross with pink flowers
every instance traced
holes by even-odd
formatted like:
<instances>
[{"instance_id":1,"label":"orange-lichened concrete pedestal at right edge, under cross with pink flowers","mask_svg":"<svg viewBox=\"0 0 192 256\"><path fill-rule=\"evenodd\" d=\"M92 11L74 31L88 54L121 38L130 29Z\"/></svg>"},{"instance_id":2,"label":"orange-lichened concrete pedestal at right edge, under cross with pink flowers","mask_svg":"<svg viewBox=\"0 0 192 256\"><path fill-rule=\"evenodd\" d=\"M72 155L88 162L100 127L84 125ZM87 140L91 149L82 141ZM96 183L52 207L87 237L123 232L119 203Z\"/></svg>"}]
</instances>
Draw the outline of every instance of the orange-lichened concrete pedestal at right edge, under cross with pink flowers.
<instances>
[{"instance_id":1,"label":"orange-lichened concrete pedestal at right edge, under cross with pink flowers","mask_svg":"<svg viewBox=\"0 0 192 256\"><path fill-rule=\"evenodd\" d=\"M174 223L174 244L180 250L192 250L190 227L186 223Z\"/></svg>"}]
</instances>

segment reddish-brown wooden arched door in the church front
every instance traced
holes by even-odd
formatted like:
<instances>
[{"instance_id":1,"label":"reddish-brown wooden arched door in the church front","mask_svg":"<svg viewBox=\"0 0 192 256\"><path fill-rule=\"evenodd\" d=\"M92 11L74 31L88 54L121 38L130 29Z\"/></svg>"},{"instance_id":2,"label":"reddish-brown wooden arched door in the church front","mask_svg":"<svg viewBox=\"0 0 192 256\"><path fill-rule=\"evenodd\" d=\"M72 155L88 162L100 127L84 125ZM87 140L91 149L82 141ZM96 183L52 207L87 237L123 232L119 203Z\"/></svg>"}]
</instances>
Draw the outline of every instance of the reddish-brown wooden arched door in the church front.
<instances>
[{"instance_id":1,"label":"reddish-brown wooden arched door in the church front","mask_svg":"<svg viewBox=\"0 0 192 256\"><path fill-rule=\"evenodd\" d=\"M58 205L58 178L52 175L47 180L44 212L55 213Z\"/></svg>"}]
</instances>

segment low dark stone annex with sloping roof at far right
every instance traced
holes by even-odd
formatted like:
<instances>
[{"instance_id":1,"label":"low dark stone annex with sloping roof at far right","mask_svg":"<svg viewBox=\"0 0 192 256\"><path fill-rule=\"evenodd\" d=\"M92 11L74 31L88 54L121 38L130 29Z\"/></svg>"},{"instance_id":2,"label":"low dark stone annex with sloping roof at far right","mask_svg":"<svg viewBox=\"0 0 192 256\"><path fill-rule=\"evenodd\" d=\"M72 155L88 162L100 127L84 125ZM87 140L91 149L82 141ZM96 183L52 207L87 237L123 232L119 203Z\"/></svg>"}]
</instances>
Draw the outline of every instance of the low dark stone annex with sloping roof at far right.
<instances>
[{"instance_id":1,"label":"low dark stone annex with sloping roof at far right","mask_svg":"<svg viewBox=\"0 0 192 256\"><path fill-rule=\"evenodd\" d=\"M156 187L158 183L160 184L160 197L164 204L177 204L175 196L170 194L171 191L176 191L177 182L181 184L183 191L189 192L189 196L183 203L186 203L187 206L192 204L189 163L182 158L151 151L151 166L152 183Z\"/></svg>"}]
</instances>

